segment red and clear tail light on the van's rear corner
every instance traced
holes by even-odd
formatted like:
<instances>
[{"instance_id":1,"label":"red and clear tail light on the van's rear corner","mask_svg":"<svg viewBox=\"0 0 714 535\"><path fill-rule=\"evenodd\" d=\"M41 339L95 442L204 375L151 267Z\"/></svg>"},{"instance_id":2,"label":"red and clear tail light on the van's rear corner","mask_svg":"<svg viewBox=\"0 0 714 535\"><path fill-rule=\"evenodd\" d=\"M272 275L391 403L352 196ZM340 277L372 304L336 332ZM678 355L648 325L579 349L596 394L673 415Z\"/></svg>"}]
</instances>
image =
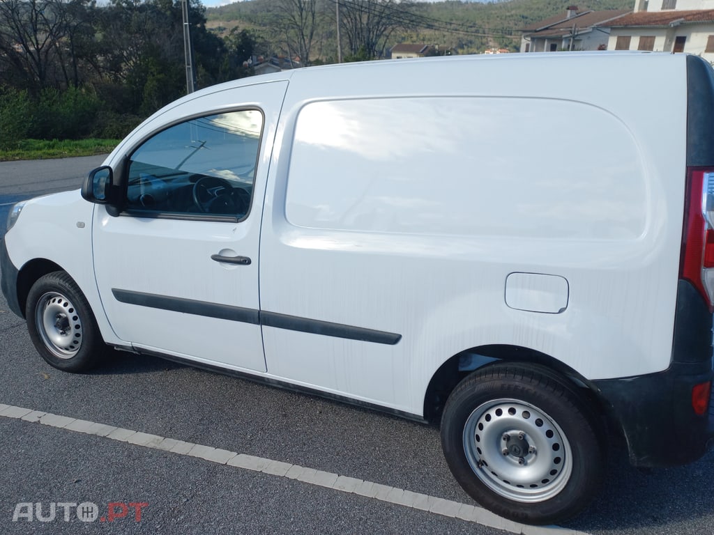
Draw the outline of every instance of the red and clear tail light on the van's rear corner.
<instances>
[{"instance_id":1,"label":"red and clear tail light on the van's rear corner","mask_svg":"<svg viewBox=\"0 0 714 535\"><path fill-rule=\"evenodd\" d=\"M713 311L714 170L690 169L686 192L680 278L691 282Z\"/></svg>"}]
</instances>

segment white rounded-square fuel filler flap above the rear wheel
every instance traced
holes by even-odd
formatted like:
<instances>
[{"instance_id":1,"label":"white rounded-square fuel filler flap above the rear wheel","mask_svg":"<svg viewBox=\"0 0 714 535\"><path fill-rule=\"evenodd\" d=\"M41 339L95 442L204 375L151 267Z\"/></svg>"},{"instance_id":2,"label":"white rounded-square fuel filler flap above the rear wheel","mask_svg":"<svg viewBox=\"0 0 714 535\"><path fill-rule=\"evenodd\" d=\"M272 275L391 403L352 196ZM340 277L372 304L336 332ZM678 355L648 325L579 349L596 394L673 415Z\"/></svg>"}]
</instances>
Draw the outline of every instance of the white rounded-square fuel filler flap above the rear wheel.
<instances>
[{"instance_id":1,"label":"white rounded-square fuel filler flap above the rear wheel","mask_svg":"<svg viewBox=\"0 0 714 535\"><path fill-rule=\"evenodd\" d=\"M506 305L526 312L560 314L568 307L568 281L557 275L511 273L506 278Z\"/></svg>"}]
</instances>

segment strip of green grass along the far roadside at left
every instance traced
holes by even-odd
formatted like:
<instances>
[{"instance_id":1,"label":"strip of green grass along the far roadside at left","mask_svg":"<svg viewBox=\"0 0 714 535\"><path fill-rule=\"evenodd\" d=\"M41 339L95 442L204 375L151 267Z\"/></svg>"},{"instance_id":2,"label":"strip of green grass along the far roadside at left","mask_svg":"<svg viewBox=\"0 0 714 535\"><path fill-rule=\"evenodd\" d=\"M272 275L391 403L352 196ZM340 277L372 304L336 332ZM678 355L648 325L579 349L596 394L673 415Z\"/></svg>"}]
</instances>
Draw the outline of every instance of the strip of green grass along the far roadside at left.
<instances>
[{"instance_id":1,"label":"strip of green grass along the far roadside at left","mask_svg":"<svg viewBox=\"0 0 714 535\"><path fill-rule=\"evenodd\" d=\"M0 161L46 160L48 158L72 158L74 156L95 156L114 150L119 139L80 139L46 141L24 139L13 149L0 149Z\"/></svg>"}]
</instances>

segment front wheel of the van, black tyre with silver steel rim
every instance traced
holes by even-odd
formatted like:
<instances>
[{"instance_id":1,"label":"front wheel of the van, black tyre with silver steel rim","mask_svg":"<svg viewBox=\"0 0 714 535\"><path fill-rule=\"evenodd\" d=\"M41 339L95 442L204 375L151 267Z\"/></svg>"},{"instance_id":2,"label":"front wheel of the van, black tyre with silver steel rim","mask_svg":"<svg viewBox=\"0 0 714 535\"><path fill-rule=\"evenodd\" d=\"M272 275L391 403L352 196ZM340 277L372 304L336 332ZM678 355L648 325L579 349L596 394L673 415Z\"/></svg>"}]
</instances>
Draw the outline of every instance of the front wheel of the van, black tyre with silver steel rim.
<instances>
[{"instance_id":1,"label":"front wheel of the van, black tyre with silver steel rim","mask_svg":"<svg viewBox=\"0 0 714 535\"><path fill-rule=\"evenodd\" d=\"M86 372L106 354L86 297L64 271L40 277L25 307L27 330L40 356L65 372Z\"/></svg>"}]
</instances>

